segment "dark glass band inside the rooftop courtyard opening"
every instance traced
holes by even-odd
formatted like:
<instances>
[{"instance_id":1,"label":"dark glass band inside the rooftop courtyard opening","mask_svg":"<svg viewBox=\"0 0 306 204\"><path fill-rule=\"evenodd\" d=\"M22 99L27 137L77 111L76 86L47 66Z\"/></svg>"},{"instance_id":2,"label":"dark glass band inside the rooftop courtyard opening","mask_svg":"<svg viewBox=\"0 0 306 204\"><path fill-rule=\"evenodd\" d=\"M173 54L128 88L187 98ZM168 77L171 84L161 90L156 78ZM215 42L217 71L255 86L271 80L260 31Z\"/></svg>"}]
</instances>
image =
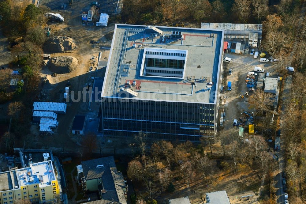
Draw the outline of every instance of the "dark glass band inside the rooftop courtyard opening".
<instances>
[{"instance_id":1,"label":"dark glass band inside the rooftop courtyard opening","mask_svg":"<svg viewBox=\"0 0 306 204\"><path fill-rule=\"evenodd\" d=\"M185 60L146 58L147 67L184 69Z\"/></svg>"}]
</instances>

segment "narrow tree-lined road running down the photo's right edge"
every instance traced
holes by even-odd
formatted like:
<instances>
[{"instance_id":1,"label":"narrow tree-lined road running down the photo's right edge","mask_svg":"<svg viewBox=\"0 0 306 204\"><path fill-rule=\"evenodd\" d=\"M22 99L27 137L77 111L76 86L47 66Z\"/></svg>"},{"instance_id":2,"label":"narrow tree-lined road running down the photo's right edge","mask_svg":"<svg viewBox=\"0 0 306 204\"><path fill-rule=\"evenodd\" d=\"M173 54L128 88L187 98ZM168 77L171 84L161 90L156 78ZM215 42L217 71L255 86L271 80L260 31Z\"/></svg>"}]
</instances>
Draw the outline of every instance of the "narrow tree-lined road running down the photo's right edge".
<instances>
[{"instance_id":1,"label":"narrow tree-lined road running down the photo's right edge","mask_svg":"<svg viewBox=\"0 0 306 204\"><path fill-rule=\"evenodd\" d=\"M306 2L303 3L302 7L301 7L301 12L300 12L300 16L299 16L299 23L298 23L298 28L301 28L301 24L304 20L304 16L306 13L306 7L305 7ZM294 40L294 45L293 45L293 51L290 53L290 59L293 59L293 55L296 51L296 49L298 48L298 44L300 42L300 32L297 30L296 32L296 37ZM288 66L291 66L291 64L288 64ZM279 124L279 128L282 131L282 136L286 136L286 130L285 130L285 120L286 120L286 115L285 115L285 108L287 106L287 104L290 101L290 91L291 91L291 85L292 85L292 75L289 75L287 77L285 77L284 79L285 81L283 82L283 88L282 88L282 96L280 98L280 104L281 104L281 112L280 112L280 124ZM283 186L282 186L282 171L284 171L285 169L285 142L284 139L282 139L281 137L281 141L280 141L280 145L281 145L281 149L278 151L278 168L276 168L274 170L274 187L276 190L276 201L277 203L284 203L285 199L284 199L284 191L283 191ZM290 197L289 197L290 200Z\"/></svg>"}]
</instances>

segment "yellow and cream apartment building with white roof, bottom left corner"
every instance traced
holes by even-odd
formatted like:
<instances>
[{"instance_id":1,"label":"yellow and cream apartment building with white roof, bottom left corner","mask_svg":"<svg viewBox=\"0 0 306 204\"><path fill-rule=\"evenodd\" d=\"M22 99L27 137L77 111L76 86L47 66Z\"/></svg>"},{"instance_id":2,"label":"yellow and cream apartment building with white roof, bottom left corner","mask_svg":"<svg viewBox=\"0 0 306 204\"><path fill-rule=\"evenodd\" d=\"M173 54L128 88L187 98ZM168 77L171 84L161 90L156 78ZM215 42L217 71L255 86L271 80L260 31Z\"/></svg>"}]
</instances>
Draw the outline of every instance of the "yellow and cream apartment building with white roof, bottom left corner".
<instances>
[{"instance_id":1,"label":"yellow and cream apartment building with white roof, bottom left corner","mask_svg":"<svg viewBox=\"0 0 306 204\"><path fill-rule=\"evenodd\" d=\"M52 161L30 164L29 167L0 173L0 203L29 200L32 203L56 203L60 187Z\"/></svg>"}]
</instances>

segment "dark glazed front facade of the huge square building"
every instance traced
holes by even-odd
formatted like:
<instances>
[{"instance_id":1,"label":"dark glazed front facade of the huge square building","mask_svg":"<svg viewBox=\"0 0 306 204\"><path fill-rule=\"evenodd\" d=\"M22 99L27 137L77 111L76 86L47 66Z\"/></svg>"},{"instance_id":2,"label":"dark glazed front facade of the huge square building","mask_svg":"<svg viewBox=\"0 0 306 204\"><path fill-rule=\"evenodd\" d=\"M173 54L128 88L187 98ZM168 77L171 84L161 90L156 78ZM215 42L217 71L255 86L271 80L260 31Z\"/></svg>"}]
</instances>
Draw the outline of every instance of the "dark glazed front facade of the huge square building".
<instances>
[{"instance_id":1,"label":"dark glazed front facade of the huge square building","mask_svg":"<svg viewBox=\"0 0 306 204\"><path fill-rule=\"evenodd\" d=\"M101 112L104 135L132 137L143 131L154 139L199 141L214 134L214 104L107 99Z\"/></svg>"}]
</instances>

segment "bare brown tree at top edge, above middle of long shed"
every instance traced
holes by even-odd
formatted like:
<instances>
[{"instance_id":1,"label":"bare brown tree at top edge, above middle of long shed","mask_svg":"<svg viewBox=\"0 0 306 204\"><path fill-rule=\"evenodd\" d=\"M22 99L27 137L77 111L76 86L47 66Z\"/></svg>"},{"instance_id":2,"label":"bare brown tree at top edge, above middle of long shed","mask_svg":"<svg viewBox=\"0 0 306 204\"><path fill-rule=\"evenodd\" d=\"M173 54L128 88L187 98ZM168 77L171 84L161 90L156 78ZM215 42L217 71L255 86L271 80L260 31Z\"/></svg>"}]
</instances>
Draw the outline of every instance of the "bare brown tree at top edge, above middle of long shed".
<instances>
[{"instance_id":1,"label":"bare brown tree at top edge, above middle of long shed","mask_svg":"<svg viewBox=\"0 0 306 204\"><path fill-rule=\"evenodd\" d=\"M250 16L251 11L251 0L235 0L232 11L237 13L237 16L241 22L246 23Z\"/></svg>"}]
</instances>

